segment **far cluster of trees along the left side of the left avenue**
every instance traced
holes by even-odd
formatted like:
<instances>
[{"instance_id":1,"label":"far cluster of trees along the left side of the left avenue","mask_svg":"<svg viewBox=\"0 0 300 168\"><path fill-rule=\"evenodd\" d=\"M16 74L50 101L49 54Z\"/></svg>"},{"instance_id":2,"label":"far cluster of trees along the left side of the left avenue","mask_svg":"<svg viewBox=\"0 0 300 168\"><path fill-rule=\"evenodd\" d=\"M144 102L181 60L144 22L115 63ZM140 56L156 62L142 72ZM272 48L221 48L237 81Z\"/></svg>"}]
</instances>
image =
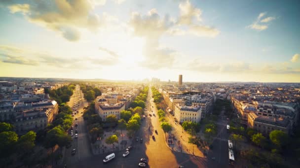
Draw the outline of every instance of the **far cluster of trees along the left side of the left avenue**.
<instances>
[{"instance_id":1,"label":"far cluster of trees along the left side of the left avenue","mask_svg":"<svg viewBox=\"0 0 300 168\"><path fill-rule=\"evenodd\" d=\"M75 89L74 84L65 85L58 89L44 88L45 94L49 94L50 98L55 100L59 105L70 101L70 97L73 95Z\"/></svg>"}]
</instances>

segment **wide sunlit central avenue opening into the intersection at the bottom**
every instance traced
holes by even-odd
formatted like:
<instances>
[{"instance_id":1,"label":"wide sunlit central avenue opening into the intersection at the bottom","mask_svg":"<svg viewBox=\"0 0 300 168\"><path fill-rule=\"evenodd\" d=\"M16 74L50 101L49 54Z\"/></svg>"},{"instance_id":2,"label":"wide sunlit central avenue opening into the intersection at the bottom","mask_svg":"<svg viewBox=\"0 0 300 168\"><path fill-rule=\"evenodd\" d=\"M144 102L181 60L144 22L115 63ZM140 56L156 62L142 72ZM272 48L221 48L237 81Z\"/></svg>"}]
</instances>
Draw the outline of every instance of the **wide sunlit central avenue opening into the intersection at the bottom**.
<instances>
[{"instance_id":1,"label":"wide sunlit central avenue opening into the intersection at the bottom","mask_svg":"<svg viewBox=\"0 0 300 168\"><path fill-rule=\"evenodd\" d=\"M146 102L146 115L147 118L142 120L141 129L136 133L136 136L142 138L143 141L133 140L133 149L130 150L130 154L124 158L122 156L123 152L120 151L115 153L115 158L109 163L104 164L103 159L107 154L93 155L88 157L82 157L81 151L80 159L76 154L71 157L71 150L67 153L68 168L137 168L141 158L147 158L149 160L150 168L178 168L178 165L183 165L185 168L208 168L215 167L214 163L210 163L208 166L207 160L188 155L185 153L174 152L170 150L165 142L163 131L160 128L158 116L149 116L151 111L157 113L154 103L151 98L151 90L149 89L148 99ZM153 106L153 108L152 108ZM78 120L78 124L80 119ZM150 131L149 128L150 127ZM158 134L154 133L157 130ZM79 130L80 131L80 130ZM151 138L154 135L155 140ZM80 138L78 139L80 140ZM81 142L79 142L80 145ZM71 148L70 148L71 149ZM79 147L79 150L82 150ZM78 159L77 159L78 158ZM70 161L71 160L71 161ZM72 161L74 160L74 162Z\"/></svg>"}]
</instances>

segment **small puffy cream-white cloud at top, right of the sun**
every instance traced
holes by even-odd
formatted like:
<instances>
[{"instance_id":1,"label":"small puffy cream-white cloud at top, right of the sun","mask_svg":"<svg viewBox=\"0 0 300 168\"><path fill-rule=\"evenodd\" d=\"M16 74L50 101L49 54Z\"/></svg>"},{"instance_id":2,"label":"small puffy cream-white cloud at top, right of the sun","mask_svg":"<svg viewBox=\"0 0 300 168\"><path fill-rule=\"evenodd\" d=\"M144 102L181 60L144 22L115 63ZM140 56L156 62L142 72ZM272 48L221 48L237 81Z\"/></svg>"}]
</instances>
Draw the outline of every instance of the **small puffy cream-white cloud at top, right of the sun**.
<instances>
[{"instance_id":1,"label":"small puffy cream-white cloud at top, right of the sun","mask_svg":"<svg viewBox=\"0 0 300 168\"><path fill-rule=\"evenodd\" d=\"M201 21L201 10L194 7L189 0L179 4L180 17L179 24L191 25L193 20Z\"/></svg>"}]
</instances>

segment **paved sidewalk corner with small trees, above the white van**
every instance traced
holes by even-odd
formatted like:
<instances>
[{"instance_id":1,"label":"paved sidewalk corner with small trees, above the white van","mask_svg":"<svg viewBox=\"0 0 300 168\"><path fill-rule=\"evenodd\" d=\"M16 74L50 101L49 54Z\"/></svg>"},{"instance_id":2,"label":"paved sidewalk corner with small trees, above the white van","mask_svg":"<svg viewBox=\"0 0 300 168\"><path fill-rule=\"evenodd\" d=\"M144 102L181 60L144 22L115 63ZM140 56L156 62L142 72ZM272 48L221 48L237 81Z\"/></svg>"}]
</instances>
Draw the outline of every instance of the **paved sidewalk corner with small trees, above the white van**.
<instances>
[{"instance_id":1,"label":"paved sidewalk corner with small trees, above the white van","mask_svg":"<svg viewBox=\"0 0 300 168\"><path fill-rule=\"evenodd\" d=\"M121 137L120 134L121 134L121 130L116 130L115 132L105 131L102 140L97 140L95 143L91 143L93 154L99 155L99 154L104 154L104 153L118 152L118 151L126 149L128 146L131 145L132 140L130 140L127 137L126 130L122 131L122 134L124 134L124 137ZM105 140L112 135L117 135L119 142L113 143L113 144L107 144L105 142Z\"/></svg>"}]
</instances>

